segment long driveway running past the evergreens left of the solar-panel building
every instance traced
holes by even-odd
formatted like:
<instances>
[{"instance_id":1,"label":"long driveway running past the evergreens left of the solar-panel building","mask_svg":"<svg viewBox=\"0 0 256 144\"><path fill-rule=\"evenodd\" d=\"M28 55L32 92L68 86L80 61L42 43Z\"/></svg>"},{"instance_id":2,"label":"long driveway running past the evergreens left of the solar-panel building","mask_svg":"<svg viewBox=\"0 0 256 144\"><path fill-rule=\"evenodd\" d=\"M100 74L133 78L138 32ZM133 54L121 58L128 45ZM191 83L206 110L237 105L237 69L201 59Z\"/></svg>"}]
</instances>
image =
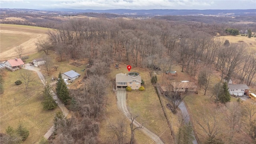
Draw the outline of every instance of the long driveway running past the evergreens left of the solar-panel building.
<instances>
[{"instance_id":1,"label":"long driveway running past the evergreens left of the solar-panel building","mask_svg":"<svg viewBox=\"0 0 256 144\"><path fill-rule=\"evenodd\" d=\"M40 72L40 70L39 70L38 67L30 66L30 64L25 64L25 68L24 68L24 69L35 71L35 72L38 74L38 76L39 76L41 82L44 84L44 82L45 82L44 76L43 76L43 74ZM53 94L53 96L54 96L54 97L53 97L54 100L56 100L56 101L55 101L56 104L58 104L58 106L59 106L60 109L62 110L64 116L68 116L69 110L66 108L66 106L64 106L64 104L62 103L62 101L58 98L58 96L57 96L52 90L51 90L51 92L52 92L52 94ZM44 134L44 137L45 137L46 139L48 139L48 138L52 135L53 130L54 130L54 127L52 126L52 127L46 132L46 134Z\"/></svg>"}]
</instances>

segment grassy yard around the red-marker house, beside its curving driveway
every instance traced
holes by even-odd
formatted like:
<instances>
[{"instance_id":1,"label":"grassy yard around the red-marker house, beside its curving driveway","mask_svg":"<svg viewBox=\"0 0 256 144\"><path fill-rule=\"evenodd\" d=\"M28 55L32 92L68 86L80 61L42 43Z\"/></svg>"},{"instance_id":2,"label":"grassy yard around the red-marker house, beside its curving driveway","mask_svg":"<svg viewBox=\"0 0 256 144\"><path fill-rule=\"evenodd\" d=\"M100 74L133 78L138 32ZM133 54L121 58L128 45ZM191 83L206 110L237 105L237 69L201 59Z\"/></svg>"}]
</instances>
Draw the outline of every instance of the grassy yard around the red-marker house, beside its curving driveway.
<instances>
[{"instance_id":1,"label":"grassy yard around the red-marker house, beside its curving driveway","mask_svg":"<svg viewBox=\"0 0 256 144\"><path fill-rule=\"evenodd\" d=\"M126 74L128 73L125 64L120 65L120 67L122 68L117 70L114 69L113 65L109 78L115 78L116 74L121 72ZM168 128L156 90L150 82L149 71L143 68L132 68L130 72L138 72L142 79L145 81L145 91L134 90L127 92L128 97L126 103L130 112L139 115L137 118L138 122L143 123L143 126L160 136L164 142L172 143L173 140L172 136L170 135L170 128ZM116 116L114 112L112 113L112 110L117 109L115 95L113 97L114 108L110 110L110 115L112 115L110 117ZM114 117L114 119L117 120L118 118ZM135 138L138 143L142 144L154 142L139 131L136 132Z\"/></svg>"}]
</instances>

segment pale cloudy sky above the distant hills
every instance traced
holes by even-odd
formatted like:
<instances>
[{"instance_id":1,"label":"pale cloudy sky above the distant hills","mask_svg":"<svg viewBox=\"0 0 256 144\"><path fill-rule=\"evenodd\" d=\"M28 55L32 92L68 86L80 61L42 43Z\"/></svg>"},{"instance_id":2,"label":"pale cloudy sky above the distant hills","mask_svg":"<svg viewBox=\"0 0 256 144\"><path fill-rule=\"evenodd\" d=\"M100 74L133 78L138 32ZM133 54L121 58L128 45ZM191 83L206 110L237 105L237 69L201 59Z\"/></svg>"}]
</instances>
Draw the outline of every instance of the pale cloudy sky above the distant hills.
<instances>
[{"instance_id":1,"label":"pale cloudy sky above the distant hills","mask_svg":"<svg viewBox=\"0 0 256 144\"><path fill-rule=\"evenodd\" d=\"M0 8L256 9L256 0L0 0Z\"/></svg>"}]
</instances>

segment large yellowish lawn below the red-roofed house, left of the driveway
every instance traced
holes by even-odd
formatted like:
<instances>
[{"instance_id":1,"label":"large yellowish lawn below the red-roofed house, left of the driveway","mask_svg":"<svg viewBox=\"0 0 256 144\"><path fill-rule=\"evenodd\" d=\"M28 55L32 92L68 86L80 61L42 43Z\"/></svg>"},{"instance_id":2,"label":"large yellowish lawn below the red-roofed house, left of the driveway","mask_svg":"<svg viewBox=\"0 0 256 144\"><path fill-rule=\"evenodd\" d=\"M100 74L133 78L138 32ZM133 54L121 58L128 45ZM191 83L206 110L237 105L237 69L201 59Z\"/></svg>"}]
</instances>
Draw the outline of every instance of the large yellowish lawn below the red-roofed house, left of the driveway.
<instances>
[{"instance_id":1,"label":"large yellowish lawn below the red-roofed house, left of the driveway","mask_svg":"<svg viewBox=\"0 0 256 144\"><path fill-rule=\"evenodd\" d=\"M8 126L16 128L20 121L30 133L24 144L33 144L50 129L54 115L60 111L60 108L57 107L51 111L43 110L39 91L42 90L42 83L36 72L32 71L36 78L36 85L28 91L24 89L23 84L16 86L14 82L19 80L20 70L7 71L4 77L4 94L0 97L0 131L5 132Z\"/></svg>"}]
</instances>

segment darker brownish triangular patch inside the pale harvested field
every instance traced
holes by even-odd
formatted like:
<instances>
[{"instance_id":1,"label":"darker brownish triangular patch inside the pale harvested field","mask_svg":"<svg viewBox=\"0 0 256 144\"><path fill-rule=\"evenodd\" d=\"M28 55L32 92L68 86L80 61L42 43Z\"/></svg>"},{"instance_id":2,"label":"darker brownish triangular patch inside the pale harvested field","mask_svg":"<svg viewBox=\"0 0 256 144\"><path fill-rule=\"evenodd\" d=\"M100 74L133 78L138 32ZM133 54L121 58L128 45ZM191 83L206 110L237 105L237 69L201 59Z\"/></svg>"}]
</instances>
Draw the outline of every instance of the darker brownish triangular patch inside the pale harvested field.
<instances>
[{"instance_id":1,"label":"darker brownish triangular patch inside the pale harvested field","mask_svg":"<svg viewBox=\"0 0 256 144\"><path fill-rule=\"evenodd\" d=\"M8 48L13 46L18 46L23 42L26 42L30 39L30 36L26 34L8 34L8 33L1 33L0 34L0 47L1 52L5 52Z\"/></svg>"}]
</instances>

